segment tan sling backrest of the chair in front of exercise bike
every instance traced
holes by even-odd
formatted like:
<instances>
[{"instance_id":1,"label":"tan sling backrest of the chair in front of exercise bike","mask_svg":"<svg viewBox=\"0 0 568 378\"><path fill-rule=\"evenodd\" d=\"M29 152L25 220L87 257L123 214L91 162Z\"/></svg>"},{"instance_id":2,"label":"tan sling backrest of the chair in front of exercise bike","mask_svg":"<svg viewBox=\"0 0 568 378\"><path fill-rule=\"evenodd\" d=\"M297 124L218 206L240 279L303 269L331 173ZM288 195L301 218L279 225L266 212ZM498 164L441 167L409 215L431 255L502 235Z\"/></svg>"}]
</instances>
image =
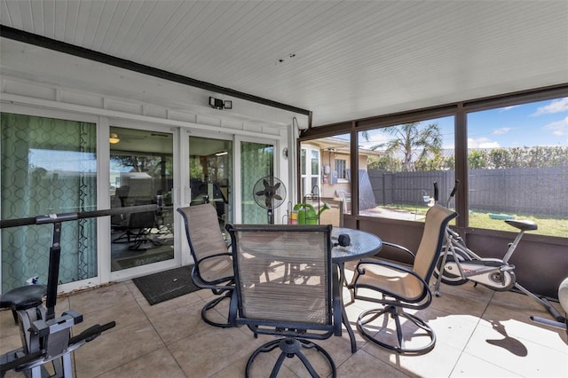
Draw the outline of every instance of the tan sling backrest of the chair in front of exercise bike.
<instances>
[{"instance_id":1,"label":"tan sling backrest of the chair in front of exercise bike","mask_svg":"<svg viewBox=\"0 0 568 378\"><path fill-rule=\"evenodd\" d=\"M448 222L458 213L440 205L434 205L426 213L426 222L422 232L422 240L416 250L413 270L428 282L434 272L434 265L444 244L444 235Z\"/></svg>"}]
</instances>

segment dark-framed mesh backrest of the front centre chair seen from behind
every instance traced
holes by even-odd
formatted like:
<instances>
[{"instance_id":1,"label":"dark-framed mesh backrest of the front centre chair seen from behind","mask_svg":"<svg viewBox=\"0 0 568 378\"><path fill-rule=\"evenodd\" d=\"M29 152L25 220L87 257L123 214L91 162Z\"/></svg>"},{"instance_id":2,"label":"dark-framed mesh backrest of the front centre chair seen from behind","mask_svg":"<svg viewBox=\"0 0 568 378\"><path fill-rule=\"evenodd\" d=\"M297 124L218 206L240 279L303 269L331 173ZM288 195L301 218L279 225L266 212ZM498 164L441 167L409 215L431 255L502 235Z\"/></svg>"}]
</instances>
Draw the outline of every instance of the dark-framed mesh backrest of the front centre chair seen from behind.
<instances>
[{"instance_id":1,"label":"dark-framed mesh backrest of the front centre chair seen from behind","mask_svg":"<svg viewBox=\"0 0 568 378\"><path fill-rule=\"evenodd\" d=\"M331 226L227 224L237 324L333 331ZM341 324L341 322L339 322ZM313 337L310 332L302 334Z\"/></svg>"}]
</instances>

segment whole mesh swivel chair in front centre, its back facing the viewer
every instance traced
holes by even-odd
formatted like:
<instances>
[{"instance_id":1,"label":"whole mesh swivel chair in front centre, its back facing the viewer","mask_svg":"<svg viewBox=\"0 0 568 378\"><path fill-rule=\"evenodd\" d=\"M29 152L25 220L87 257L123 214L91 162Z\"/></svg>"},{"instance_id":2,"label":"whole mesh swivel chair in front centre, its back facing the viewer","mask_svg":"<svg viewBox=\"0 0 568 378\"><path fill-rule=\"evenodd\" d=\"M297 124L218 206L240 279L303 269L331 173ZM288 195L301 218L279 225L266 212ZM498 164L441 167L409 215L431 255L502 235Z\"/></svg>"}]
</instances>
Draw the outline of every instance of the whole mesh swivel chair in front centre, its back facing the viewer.
<instances>
[{"instance_id":1,"label":"whole mesh swivel chair in front centre, its back facing the viewer","mask_svg":"<svg viewBox=\"0 0 568 378\"><path fill-rule=\"evenodd\" d=\"M309 359L316 356L325 358L331 369L320 372L321 375L336 376L333 358L310 341L341 335L341 302L337 270L332 269L331 228L227 224L235 272L230 319L235 326L248 326L255 336L279 336L252 353L245 376L256 371L253 365L264 366L260 362L253 364L260 353L277 348L280 354L274 356L271 377L278 374L285 358L295 357L303 363L307 374L319 376ZM254 375L257 374L256 371Z\"/></svg>"}]
</instances>

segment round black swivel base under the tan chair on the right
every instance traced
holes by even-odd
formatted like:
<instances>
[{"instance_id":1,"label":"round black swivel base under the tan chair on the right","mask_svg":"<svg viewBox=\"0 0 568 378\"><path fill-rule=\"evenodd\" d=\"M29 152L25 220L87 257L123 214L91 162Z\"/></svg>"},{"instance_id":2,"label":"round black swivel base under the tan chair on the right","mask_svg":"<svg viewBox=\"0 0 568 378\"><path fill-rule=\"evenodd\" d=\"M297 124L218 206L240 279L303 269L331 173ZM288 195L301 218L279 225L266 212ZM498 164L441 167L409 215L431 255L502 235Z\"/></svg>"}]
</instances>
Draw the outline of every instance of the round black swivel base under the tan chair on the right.
<instances>
[{"instance_id":1,"label":"round black swivel base under the tan chair on the right","mask_svg":"<svg viewBox=\"0 0 568 378\"><path fill-rule=\"evenodd\" d=\"M383 325L379 327L373 327L371 329L369 325L376 319L382 318L383 315L386 317L383 319ZM392 317L395 322L398 341L397 345L379 340L381 336L379 334L382 333L386 327L388 327L388 315L390 315L390 317ZM430 339L430 342L415 348L406 347L405 335L403 332L402 324L400 323L400 317L410 320L416 327L419 327L423 331L425 331L426 336L428 336L428 338ZM426 324L426 322L412 314L402 311L399 307L393 305L387 305L381 309L373 309L362 312L359 315L359 319L357 319L357 329L359 330L359 333L363 335L369 342L375 343L376 345L379 345L383 348L394 350L402 354L418 355L428 353L434 348L434 345L436 344L436 334L434 333L434 330Z\"/></svg>"}]
</instances>

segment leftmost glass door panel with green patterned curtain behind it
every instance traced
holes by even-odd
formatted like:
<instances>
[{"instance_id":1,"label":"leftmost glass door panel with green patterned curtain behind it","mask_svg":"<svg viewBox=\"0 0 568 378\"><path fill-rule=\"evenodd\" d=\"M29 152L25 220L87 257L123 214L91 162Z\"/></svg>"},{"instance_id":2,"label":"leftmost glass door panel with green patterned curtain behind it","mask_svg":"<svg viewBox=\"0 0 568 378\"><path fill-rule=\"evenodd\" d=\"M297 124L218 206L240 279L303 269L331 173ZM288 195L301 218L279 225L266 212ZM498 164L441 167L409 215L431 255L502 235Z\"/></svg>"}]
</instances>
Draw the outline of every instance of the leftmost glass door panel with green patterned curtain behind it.
<instances>
[{"instance_id":1,"label":"leftmost glass door panel with green patterned curtain behind it","mask_svg":"<svg viewBox=\"0 0 568 378\"><path fill-rule=\"evenodd\" d=\"M1 114L1 217L91 211L97 197L94 123ZM47 283L52 225L2 230L2 291ZM64 222L59 283L97 275L96 219Z\"/></svg>"}]
</instances>

